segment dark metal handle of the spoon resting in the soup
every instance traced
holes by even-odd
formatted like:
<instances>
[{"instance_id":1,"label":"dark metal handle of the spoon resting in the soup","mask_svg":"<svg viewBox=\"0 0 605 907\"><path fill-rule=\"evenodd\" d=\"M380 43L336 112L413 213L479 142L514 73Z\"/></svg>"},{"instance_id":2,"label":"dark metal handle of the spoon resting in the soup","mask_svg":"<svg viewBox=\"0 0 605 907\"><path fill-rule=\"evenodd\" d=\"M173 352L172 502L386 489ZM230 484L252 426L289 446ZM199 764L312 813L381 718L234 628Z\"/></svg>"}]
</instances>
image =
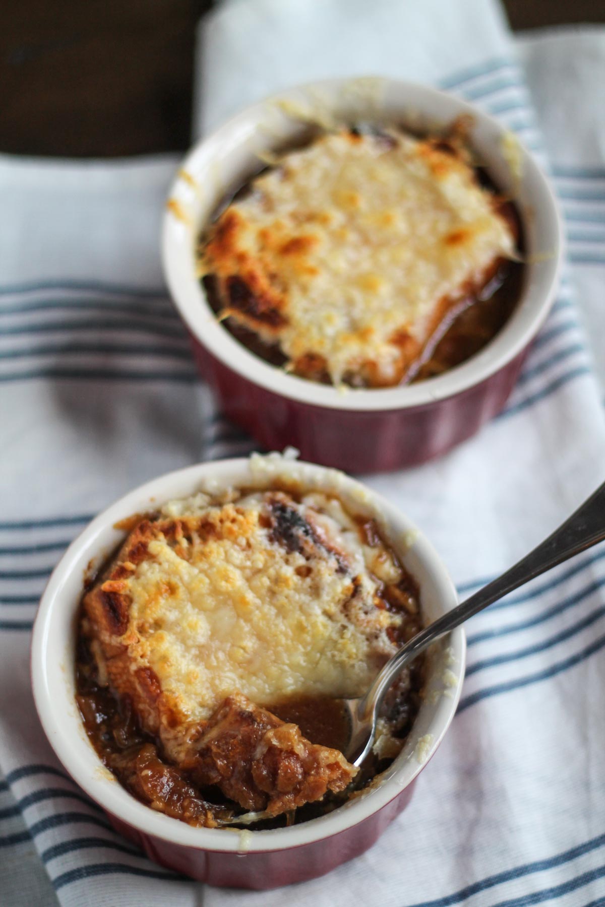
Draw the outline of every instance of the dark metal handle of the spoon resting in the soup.
<instances>
[{"instance_id":1,"label":"dark metal handle of the spoon resting in the soup","mask_svg":"<svg viewBox=\"0 0 605 907\"><path fill-rule=\"evenodd\" d=\"M493 601L502 599L504 595L518 589L524 583L540 576L541 573L556 567L561 561L585 551L597 542L605 539L605 483L600 485L590 498L571 514L571 517L561 524L559 529L542 544L530 551L521 561L517 561L510 570L507 570L496 580L489 582L483 589L478 590L469 599L448 611L442 617L434 620L425 627L414 639L410 639L396 655L386 662L377 675L374 683L369 688L366 696L359 702L358 714L368 715L377 713L385 696L386 690L391 686L399 671L445 633L460 626L465 620L473 617L478 611L487 608Z\"/></svg>"}]
</instances>

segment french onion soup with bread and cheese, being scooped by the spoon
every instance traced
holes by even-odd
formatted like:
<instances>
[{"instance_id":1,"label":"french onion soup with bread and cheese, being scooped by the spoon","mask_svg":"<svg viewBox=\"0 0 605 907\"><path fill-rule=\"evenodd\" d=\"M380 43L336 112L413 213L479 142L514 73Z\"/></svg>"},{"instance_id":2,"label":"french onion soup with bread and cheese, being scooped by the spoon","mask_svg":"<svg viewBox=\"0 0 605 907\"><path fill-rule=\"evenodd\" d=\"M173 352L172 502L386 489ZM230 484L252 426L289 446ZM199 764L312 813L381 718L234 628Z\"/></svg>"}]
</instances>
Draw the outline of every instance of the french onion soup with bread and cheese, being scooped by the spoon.
<instances>
[{"instance_id":1,"label":"french onion soup with bread and cheese, being scooped by the spoon","mask_svg":"<svg viewBox=\"0 0 605 907\"><path fill-rule=\"evenodd\" d=\"M102 762L191 825L252 828L335 809L401 751L424 662L389 691L363 776L338 699L363 695L421 628L376 522L276 483L199 493L122 525L83 595L77 702Z\"/></svg>"}]
</instances>

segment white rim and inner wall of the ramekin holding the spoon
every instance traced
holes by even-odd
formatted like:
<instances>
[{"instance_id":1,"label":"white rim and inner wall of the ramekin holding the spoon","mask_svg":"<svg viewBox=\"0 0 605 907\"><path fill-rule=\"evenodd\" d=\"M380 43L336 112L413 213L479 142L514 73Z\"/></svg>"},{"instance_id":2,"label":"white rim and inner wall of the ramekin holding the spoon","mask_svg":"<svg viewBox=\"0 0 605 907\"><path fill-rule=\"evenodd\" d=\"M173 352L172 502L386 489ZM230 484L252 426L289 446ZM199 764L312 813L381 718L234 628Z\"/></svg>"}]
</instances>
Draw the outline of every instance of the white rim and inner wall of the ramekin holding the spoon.
<instances>
[{"instance_id":1,"label":"white rim and inner wall of the ramekin holding the spoon","mask_svg":"<svg viewBox=\"0 0 605 907\"><path fill-rule=\"evenodd\" d=\"M186 497L209 480L218 486L250 486L270 484L280 476L295 476L305 487L335 492L356 512L376 517L385 538L419 583L426 621L436 619L456 604L453 583L433 547L395 507L343 473L278 454L202 463L163 475L96 517L63 555L40 602L32 639L35 704L56 755L86 793L123 822L173 844L236 853L282 850L337 834L361 822L415 778L439 745L460 697L465 656L463 629L454 630L431 652L427 695L404 750L380 783L335 812L290 828L244 835L226 829L192 828L141 804L102 766L84 733L74 700L75 616L91 564L93 568L100 566L123 538L124 532L115 529L115 523L162 502ZM422 737L425 739L418 746Z\"/></svg>"}]
</instances>

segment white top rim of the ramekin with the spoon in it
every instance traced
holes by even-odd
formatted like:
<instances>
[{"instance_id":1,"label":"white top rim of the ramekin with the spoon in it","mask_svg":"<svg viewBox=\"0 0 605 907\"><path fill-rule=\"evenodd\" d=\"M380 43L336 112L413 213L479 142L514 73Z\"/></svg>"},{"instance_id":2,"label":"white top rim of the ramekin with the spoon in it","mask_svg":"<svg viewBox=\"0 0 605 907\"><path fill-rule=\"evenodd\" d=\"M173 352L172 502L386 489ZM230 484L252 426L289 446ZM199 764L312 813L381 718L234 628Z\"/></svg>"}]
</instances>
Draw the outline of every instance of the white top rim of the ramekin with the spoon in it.
<instances>
[{"instance_id":1,"label":"white top rim of the ramekin with the spoon in it","mask_svg":"<svg viewBox=\"0 0 605 907\"><path fill-rule=\"evenodd\" d=\"M258 454L257 454L258 456ZM274 456L275 454L269 454ZM263 458L263 459L266 459ZM284 463L281 458L281 463ZM310 822L294 825L285 829L275 829L268 831L256 831L244 834L235 834L226 829L207 829L194 828L188 824L182 823L178 819L172 819L169 816L156 813L147 805L137 801L117 782L115 778L109 776L106 769L103 768L101 760L93 755L93 762L96 763L96 773L94 776L87 774L85 766L80 763L80 756L77 756L77 746L74 741L77 738L83 741L83 726L80 716L73 703L73 714L66 716L61 711L60 705L54 703L51 691L48 687L47 676L47 655L48 655L48 634L51 622L56 610L60 609L60 593L63 581L75 569L82 568L82 558L88 560L94 545L98 546L99 536L103 531L114 527L114 524L123 519L125 515L137 512L133 506L135 500L141 502L143 499L164 499L169 500L171 495L165 496L161 493L161 487L171 481L189 480L192 491L195 490L196 483L200 483L205 474L212 473L214 469L220 467L220 472L229 473L229 470L249 469L250 458L234 458L224 461L215 461L212 463L198 463L184 469L176 470L171 473L164 473L161 476L144 483L130 493L123 495L120 499L113 502L109 507L91 521L80 535L71 543L67 551L64 552L61 561L55 567L46 589L44 590L40 607L34 620L34 631L32 634L31 645L31 665L32 665L32 686L34 690L34 702L36 711L44 727L44 733L47 736L56 756L62 762L65 769L73 779L90 795L93 800L105 809L108 813L114 815L125 824L131 825L142 834L151 834L163 841L171 844L179 844L191 847L201 851L211 851L217 853L267 853L272 851L289 850L304 844L323 840L331 837L346 829L363 822L370 815L377 813L385 807L391 800L399 795L405 787L412 784L416 775L423 769L424 765L434 755L435 750L441 743L447 728L454 718L455 709L462 692L465 666L465 638L464 630L459 628L454 630L450 636L450 645L454 652L454 658L458 665L459 674L456 678L456 686L450 690L450 696L443 705L440 704L440 721L434 721L434 727L431 725L432 740L428 744L425 753L425 759L417 762L405 785L397 782L397 776L401 775L407 762L396 766L397 761L393 764L388 772L392 772L388 777L383 779L376 788L368 791L363 797L349 801L343 807L334 812L311 820ZM415 551L421 552L421 560L424 561L430 570L437 577L440 586L444 590L444 600L447 608L454 607L457 597L452 580L447 573L443 562L439 558L432 544L426 539L422 532L419 532L415 525L405 517L405 514L398 511L392 504L386 501L382 495L367 488L366 485L359 483L355 479L340 473L338 470L328 469L327 467L317 466L314 463L302 463L297 461L297 465L305 470L312 470L314 473L332 473L338 476L338 485L343 491L355 491L361 489L376 512L386 514L386 523L391 530L399 527L403 532L413 532L415 535ZM288 468L288 467L287 467ZM242 473L243 474L243 473ZM379 508L379 510L378 510ZM99 553L97 547L97 554ZM80 562L79 562L80 561ZM59 601L58 604L56 602ZM74 608L73 601L63 602L63 607ZM68 635L63 640L63 646L69 641ZM67 668L63 668L65 670ZM93 748L90 743L90 752ZM88 754L88 750L86 750ZM88 754L90 755L90 754ZM401 757L398 757L398 759ZM102 789L102 795L99 790ZM245 845L241 844L245 841ZM229 843L229 844L228 844Z\"/></svg>"}]
</instances>

